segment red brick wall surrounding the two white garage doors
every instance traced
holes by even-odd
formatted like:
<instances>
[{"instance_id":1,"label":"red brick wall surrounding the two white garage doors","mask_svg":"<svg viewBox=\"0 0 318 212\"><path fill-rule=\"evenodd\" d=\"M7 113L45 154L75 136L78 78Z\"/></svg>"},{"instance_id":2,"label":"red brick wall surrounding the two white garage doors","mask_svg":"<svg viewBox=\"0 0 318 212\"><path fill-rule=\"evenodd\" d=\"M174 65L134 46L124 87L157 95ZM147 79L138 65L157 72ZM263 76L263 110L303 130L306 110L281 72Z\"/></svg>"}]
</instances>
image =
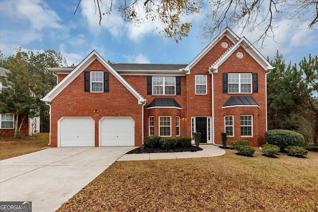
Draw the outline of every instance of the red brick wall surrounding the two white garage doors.
<instances>
[{"instance_id":1,"label":"red brick wall surrounding the two white garage doors","mask_svg":"<svg viewBox=\"0 0 318 212\"><path fill-rule=\"evenodd\" d=\"M108 71L98 60L84 71ZM95 110L98 110L96 113ZM109 92L84 92L84 73L74 79L51 102L51 146L57 147L57 124L62 117L91 117L95 121L95 146L98 141L98 121L104 116L132 117L135 121L135 145L142 143L142 105L136 97L109 72Z\"/></svg>"}]
</instances>

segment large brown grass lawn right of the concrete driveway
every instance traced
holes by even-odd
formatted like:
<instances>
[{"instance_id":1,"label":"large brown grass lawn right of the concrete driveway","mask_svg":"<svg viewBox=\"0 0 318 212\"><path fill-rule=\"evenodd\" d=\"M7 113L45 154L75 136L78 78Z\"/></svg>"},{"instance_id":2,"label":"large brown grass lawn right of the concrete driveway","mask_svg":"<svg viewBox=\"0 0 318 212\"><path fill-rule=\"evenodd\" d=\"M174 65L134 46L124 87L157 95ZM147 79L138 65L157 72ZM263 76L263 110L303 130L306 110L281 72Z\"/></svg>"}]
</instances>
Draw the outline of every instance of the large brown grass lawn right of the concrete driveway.
<instances>
[{"instance_id":1,"label":"large brown grass lawn right of the concrete driveway","mask_svg":"<svg viewBox=\"0 0 318 212\"><path fill-rule=\"evenodd\" d=\"M58 212L318 211L318 153L117 161Z\"/></svg>"}]
</instances>

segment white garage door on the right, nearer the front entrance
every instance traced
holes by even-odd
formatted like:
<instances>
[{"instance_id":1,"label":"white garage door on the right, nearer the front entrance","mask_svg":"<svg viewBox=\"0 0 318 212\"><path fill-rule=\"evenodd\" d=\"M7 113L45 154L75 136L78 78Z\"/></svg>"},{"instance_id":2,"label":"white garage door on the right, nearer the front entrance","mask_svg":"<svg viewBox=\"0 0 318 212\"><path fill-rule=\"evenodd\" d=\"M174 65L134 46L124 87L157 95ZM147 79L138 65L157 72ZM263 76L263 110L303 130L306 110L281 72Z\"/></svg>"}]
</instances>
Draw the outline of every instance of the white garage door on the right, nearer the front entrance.
<instances>
[{"instance_id":1,"label":"white garage door on the right, nearer the front entrance","mask_svg":"<svg viewBox=\"0 0 318 212\"><path fill-rule=\"evenodd\" d=\"M130 117L104 117L100 121L101 146L134 146L135 122Z\"/></svg>"}]
</instances>

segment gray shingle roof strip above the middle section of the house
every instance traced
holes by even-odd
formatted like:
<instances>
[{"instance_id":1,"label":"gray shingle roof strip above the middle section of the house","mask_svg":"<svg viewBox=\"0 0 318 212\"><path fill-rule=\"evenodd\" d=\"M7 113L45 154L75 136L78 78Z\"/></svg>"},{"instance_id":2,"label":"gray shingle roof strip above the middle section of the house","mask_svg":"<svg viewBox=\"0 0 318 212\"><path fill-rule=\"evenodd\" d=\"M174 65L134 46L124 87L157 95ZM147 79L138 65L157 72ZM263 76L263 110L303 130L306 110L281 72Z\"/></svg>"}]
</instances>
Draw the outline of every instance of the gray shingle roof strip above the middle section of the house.
<instances>
[{"instance_id":1,"label":"gray shingle roof strip above the middle section of the house","mask_svg":"<svg viewBox=\"0 0 318 212\"><path fill-rule=\"evenodd\" d=\"M187 64L110 64L115 70L180 70Z\"/></svg>"}]
</instances>

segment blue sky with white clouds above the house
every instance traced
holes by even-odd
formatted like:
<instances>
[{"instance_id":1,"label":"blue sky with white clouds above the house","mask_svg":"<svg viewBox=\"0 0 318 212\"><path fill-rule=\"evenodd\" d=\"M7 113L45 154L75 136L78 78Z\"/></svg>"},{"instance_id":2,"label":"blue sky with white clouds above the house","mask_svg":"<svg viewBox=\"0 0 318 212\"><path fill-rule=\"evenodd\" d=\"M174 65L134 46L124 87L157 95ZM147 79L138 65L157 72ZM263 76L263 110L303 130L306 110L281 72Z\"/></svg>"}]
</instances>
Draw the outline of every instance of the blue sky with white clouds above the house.
<instances>
[{"instance_id":1,"label":"blue sky with white clouds above the house","mask_svg":"<svg viewBox=\"0 0 318 212\"><path fill-rule=\"evenodd\" d=\"M114 11L107 21L95 14L92 0L81 0L79 10L74 11L79 0L0 0L0 50L6 56L15 49L43 52L53 49L61 52L68 65L79 64L92 50L105 60L115 63L188 64L207 45L199 36L204 24L204 12L184 17L192 22L189 37L178 44L159 33L160 25L145 21L141 27L126 23ZM318 32L306 29L308 22L277 19L274 29L275 43L271 38L265 47L255 46L265 58L273 59L276 51L287 62L299 63L304 57L318 55ZM317 25L317 24L316 24ZM317 26L316 26L317 28ZM258 32L232 29L239 37L245 36L251 43Z\"/></svg>"}]
</instances>

